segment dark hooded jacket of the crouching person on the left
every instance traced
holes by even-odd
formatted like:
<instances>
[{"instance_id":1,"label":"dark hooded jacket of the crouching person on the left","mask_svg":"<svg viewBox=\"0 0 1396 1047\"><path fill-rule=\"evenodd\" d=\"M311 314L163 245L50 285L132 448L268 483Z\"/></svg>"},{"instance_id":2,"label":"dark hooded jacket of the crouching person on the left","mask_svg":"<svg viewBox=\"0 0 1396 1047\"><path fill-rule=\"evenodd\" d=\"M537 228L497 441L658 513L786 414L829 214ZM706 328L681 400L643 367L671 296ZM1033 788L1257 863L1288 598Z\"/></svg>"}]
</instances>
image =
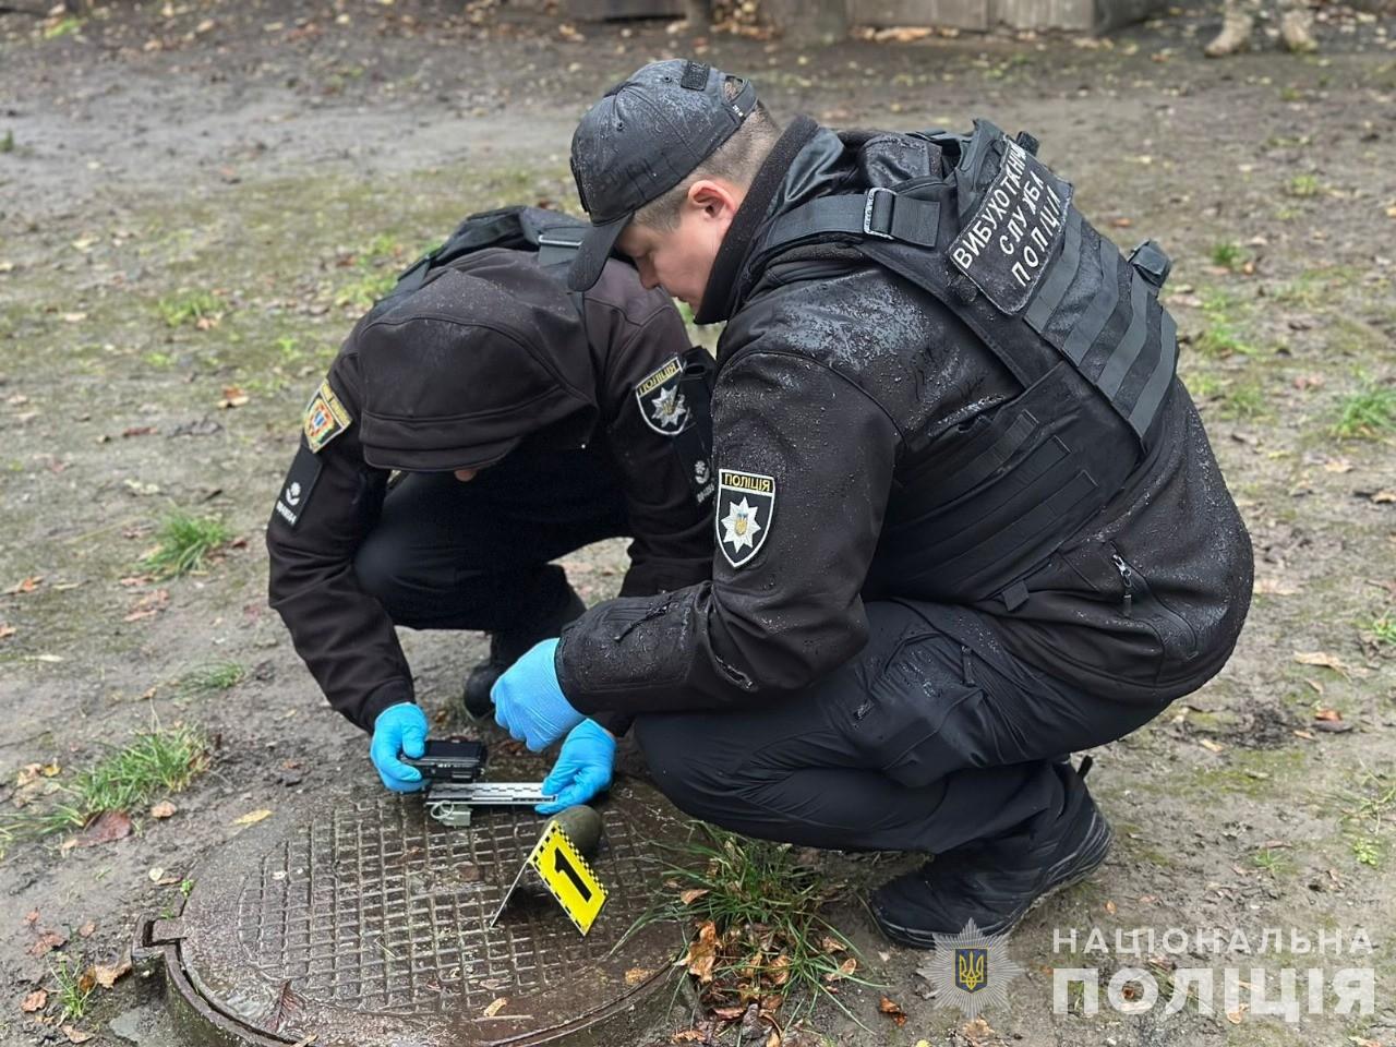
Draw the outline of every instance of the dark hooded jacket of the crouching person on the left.
<instances>
[{"instance_id":1,"label":"dark hooded jacket of the crouching person on the left","mask_svg":"<svg viewBox=\"0 0 1396 1047\"><path fill-rule=\"evenodd\" d=\"M459 447L480 430L482 443L501 448L511 437L551 424L574 447L599 444L618 469L634 536L624 595L660 593L709 574L711 501L699 505L695 500L673 438L645 424L635 395L646 376L688 352L683 320L666 295L641 286L631 267L609 262L585 295L584 332L561 282L544 275L536 258L528 251L479 251L433 272L405 302L364 317L327 378L349 423L331 430L331 438L314 452L302 436L292 475L300 468L315 469L314 487L303 496L299 514L285 511L282 493L267 528L271 606L281 613L296 652L329 704L366 730L387 706L412 701L413 685L392 621L353 574L355 553L377 521L389 476L387 468L364 461L364 437L378 441L371 444L370 458L401 466L410 461L405 447L412 440L445 440L445 445ZM423 360L436 352L461 356L447 388L459 387L462 406L447 419L452 431L445 437L429 433L431 426L423 423L420 410L410 416L413 403L370 410L366 426L369 383L392 385L376 389L374 403L403 398L420 403L429 394L440 398L440 380L437 388L430 388L433 383L413 388L419 377L392 371L391 346L384 342L389 336L398 339L394 343L403 355L417 353ZM440 369L430 374L440 374ZM508 412L490 409L490 402L504 395L501 388L518 391ZM480 398L482 415L475 424L469 410L476 405L469 401L479 389L487 395ZM311 410L320 396L313 398ZM321 430L311 424L309 431ZM398 461L394 454L406 458ZM391 461L381 461L384 455Z\"/></svg>"}]
</instances>

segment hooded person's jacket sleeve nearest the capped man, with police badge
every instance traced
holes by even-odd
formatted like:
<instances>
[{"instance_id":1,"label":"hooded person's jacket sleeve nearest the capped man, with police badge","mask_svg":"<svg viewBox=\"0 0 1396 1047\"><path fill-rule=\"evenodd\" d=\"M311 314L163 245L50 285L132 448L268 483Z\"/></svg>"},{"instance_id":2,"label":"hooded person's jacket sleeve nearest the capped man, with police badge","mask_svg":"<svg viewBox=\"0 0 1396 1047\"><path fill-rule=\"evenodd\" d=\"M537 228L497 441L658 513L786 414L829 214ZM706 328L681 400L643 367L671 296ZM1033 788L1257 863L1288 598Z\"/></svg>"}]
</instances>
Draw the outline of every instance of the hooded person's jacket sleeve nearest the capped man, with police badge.
<instances>
[{"instance_id":1,"label":"hooded person's jacket sleeve nearest the capped man, with police badge","mask_svg":"<svg viewBox=\"0 0 1396 1047\"><path fill-rule=\"evenodd\" d=\"M638 307L637 307L638 304ZM637 387L666 362L683 362L688 332L667 296L646 293L611 318L603 376L606 440L620 469L632 536L621 596L651 596L704 581L712 565L712 498L698 503L674 437L646 424Z\"/></svg>"}]
</instances>

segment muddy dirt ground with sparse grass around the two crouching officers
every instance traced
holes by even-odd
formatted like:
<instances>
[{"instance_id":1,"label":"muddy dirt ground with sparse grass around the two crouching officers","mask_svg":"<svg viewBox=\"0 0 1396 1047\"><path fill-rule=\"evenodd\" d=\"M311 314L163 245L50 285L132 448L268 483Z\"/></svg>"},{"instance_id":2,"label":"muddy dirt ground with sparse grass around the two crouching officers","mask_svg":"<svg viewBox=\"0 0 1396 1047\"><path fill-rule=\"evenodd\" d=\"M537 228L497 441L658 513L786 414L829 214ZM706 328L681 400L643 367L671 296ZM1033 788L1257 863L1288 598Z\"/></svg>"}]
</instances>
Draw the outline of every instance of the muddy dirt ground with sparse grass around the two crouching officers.
<instances>
[{"instance_id":1,"label":"muddy dirt ground with sparse grass around the two crouching officers","mask_svg":"<svg viewBox=\"0 0 1396 1047\"><path fill-rule=\"evenodd\" d=\"M884 987L842 991L866 1029L826 1009L808 1041L1396 1043L1396 637L1374 630L1396 613L1396 455L1389 436L1333 431L1346 398L1396 383L1396 18L1321 14L1319 56L1266 40L1219 63L1199 56L1206 10L1100 42L812 52L426 0L0 14L0 805L27 766L57 764L61 783L152 723L216 743L172 818L133 812L127 839L64 850L59 836L0 860L0 1041L73 1040L52 1005L21 1001L54 988L59 956L116 962L135 916L177 909L179 884L246 831L236 818L371 780L364 738L265 607L262 528L302 406L384 274L469 211L575 208L567 148L585 105L642 61L701 52L752 74L778 116L1029 128L1097 225L1127 247L1157 237L1182 373L1256 551L1227 669L1096 754L1118 843L1012 935L1026 973L1011 1009L962 1029L916 973L926 955L881 942L850 902L838 919ZM216 318L170 325L161 303L193 292ZM172 508L219 514L243 540L205 574L151 581L137 561ZM589 600L621 564L620 543L567 561ZM480 638L403 641L445 725ZM183 685L212 663L247 676ZM1198 928L1240 928L1254 948L1276 927L1344 945L1360 928L1374 949L1195 948ZM1185 928L1191 952L1054 951L1093 928ZM43 953L47 931L66 944ZM1272 980L1300 967L1301 998L1307 967L1374 967L1375 1008L1337 1015L1329 995L1297 1025L1163 1000L1121 1013L1101 988L1097 1015L1053 1013L1053 967L1145 967L1164 998L1171 967L1213 967L1220 1004L1222 967L1251 980L1256 965ZM905 1025L878 1012L882 994ZM73 1029L173 1043L159 1015L158 979L137 972Z\"/></svg>"}]
</instances>

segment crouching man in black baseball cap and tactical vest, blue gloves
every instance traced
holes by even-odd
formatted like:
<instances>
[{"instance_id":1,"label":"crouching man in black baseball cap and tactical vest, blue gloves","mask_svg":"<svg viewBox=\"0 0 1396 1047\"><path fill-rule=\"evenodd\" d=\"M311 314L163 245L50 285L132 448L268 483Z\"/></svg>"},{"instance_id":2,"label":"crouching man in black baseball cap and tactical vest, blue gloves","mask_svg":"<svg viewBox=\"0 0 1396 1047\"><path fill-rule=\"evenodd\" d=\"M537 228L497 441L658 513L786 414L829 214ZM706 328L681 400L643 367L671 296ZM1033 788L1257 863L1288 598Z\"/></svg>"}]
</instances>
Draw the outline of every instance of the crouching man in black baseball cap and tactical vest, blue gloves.
<instances>
[{"instance_id":1,"label":"crouching man in black baseball cap and tactical vest, blue gloves","mask_svg":"<svg viewBox=\"0 0 1396 1047\"><path fill-rule=\"evenodd\" d=\"M609 780L624 713L684 811L935 856L872 896L893 940L1013 926L1111 831L1067 755L1227 660L1251 546L1159 303L1029 135L783 131L750 81L646 66L572 170L613 248L726 320L711 581L593 607L496 684L554 782ZM574 726L579 725L579 726Z\"/></svg>"}]
</instances>

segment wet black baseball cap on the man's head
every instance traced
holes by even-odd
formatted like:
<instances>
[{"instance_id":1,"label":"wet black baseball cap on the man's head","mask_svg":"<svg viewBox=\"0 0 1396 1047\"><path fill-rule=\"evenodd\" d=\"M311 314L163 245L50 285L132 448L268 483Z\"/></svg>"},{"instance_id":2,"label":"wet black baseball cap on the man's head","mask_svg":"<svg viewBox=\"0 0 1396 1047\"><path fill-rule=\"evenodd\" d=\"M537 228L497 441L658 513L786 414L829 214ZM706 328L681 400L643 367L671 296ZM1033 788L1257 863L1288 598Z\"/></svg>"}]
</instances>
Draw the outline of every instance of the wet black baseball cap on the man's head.
<instances>
[{"instance_id":1,"label":"wet black baseball cap on the man's head","mask_svg":"<svg viewBox=\"0 0 1396 1047\"><path fill-rule=\"evenodd\" d=\"M726 84L738 89L727 98ZM757 107L750 80L702 61L652 61L586 110L572 135L572 177L592 228L567 275L586 290L635 212L722 145Z\"/></svg>"}]
</instances>

